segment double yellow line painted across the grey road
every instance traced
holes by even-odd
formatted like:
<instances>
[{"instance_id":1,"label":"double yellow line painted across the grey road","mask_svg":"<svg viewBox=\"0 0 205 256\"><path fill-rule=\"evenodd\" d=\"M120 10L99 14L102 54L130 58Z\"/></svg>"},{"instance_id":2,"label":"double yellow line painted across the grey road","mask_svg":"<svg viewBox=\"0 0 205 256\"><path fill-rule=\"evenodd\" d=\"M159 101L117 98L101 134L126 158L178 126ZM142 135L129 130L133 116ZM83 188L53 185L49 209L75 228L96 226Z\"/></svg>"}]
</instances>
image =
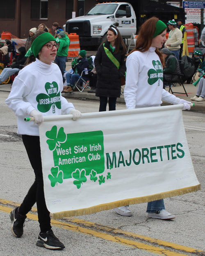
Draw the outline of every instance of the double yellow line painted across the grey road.
<instances>
[{"instance_id":1,"label":"double yellow line painted across the grey road","mask_svg":"<svg viewBox=\"0 0 205 256\"><path fill-rule=\"evenodd\" d=\"M18 204L11 202L11 201L7 201L7 200L3 200L0 199L0 203L4 204L4 205L12 205L14 207L16 207ZM36 208L33 208L34 211L36 212ZM0 205L0 211L2 212L6 212L6 213L10 213L11 212L11 208L9 207L5 207L5 206L1 206ZM27 218L28 219L32 219L34 221L38 221L38 217L36 214L27 214ZM121 238L115 235L109 235L109 234L105 234L99 231L95 231L92 229L88 229L88 228L84 228L84 227L80 227L80 226L76 226L76 225L72 225L70 223L65 223L62 221L56 221L56 220L51 220L51 223L54 226L58 226L60 228L64 228L67 230L72 230L74 232L79 232L79 233L83 233L83 234L87 234L87 235L93 235L95 237L98 238L102 238L104 240L108 240L111 242L118 242L120 244L123 244L125 246L131 246L133 248L138 248L138 249L142 249L142 250L146 250L150 253L154 253L154 254L159 254L159 255L166 255L166 256L182 256L182 255L186 255L184 253L189 252L189 253L200 253L203 251L194 249L194 248L190 248L190 247L185 247L179 244L174 244L174 243L170 243L170 242L166 242L166 241L162 241L162 240L158 240L152 237L146 237L146 236L142 236L142 235L138 235L132 232L127 232L124 230L120 230L120 229L115 229L115 228L111 228L111 227L107 227L107 226L103 226L103 225L99 225L93 222L89 222L89 221L84 221L81 219L77 219L77 218L66 218L69 222L71 223L75 223L78 225L83 225L86 226L88 228L96 228L96 229L100 229L103 230L105 232L112 232L114 234L119 234L119 235L125 235L127 237L134 237L134 238L140 238L141 240L144 240L144 242L148 241L148 242L152 242L155 245L158 244L159 246L164 246L164 247L171 247L171 249L175 249L175 250L180 250L179 253L175 252L175 251L170 251L169 249L164 249L164 248L160 248L160 247L155 247L149 244L144 244L142 242L136 242L136 241L132 241L130 239L125 239L125 238Z\"/></svg>"}]
</instances>

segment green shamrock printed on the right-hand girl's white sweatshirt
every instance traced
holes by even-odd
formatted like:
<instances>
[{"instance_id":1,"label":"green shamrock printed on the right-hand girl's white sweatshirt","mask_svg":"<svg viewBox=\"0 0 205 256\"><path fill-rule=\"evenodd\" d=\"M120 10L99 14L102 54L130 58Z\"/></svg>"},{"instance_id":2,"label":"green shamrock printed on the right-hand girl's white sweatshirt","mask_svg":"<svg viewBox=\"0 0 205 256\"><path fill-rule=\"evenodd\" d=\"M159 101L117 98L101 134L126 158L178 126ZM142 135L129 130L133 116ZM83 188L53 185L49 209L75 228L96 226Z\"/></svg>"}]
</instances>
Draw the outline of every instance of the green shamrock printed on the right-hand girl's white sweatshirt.
<instances>
[{"instance_id":1,"label":"green shamrock printed on the right-hand girl's white sweatshirt","mask_svg":"<svg viewBox=\"0 0 205 256\"><path fill-rule=\"evenodd\" d=\"M153 85L158 81L159 86L159 79L163 81L163 70L162 70L162 64L160 61L152 61L153 66L155 69L151 68L148 71L148 84Z\"/></svg>"}]
</instances>

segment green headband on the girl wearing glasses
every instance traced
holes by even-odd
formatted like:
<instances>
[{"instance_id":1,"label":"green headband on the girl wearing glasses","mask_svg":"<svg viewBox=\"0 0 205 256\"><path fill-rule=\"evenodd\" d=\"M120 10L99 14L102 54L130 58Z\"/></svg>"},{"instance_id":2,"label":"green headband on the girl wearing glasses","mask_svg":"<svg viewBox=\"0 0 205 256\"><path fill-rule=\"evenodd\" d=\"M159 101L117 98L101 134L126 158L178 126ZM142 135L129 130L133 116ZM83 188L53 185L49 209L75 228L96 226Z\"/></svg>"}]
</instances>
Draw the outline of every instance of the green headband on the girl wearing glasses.
<instances>
[{"instance_id":1,"label":"green headband on the girl wearing glasses","mask_svg":"<svg viewBox=\"0 0 205 256\"><path fill-rule=\"evenodd\" d=\"M36 37L36 39L31 45L31 50L34 56L36 57L39 54L39 51L41 51L41 48L43 47L43 45L50 41L56 42L55 38L50 33L43 33L38 37Z\"/></svg>"}]
</instances>

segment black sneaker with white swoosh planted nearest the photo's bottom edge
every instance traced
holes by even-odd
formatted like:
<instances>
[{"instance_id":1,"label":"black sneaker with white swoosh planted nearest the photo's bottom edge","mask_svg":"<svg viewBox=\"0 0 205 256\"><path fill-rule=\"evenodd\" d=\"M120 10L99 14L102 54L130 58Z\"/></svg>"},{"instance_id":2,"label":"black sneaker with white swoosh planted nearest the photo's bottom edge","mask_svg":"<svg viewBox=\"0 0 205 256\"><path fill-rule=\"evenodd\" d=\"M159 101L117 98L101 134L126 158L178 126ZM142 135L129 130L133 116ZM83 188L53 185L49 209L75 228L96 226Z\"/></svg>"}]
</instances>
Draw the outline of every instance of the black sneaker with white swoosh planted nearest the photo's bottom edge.
<instances>
[{"instance_id":1,"label":"black sneaker with white swoosh planted nearest the photo's bottom edge","mask_svg":"<svg viewBox=\"0 0 205 256\"><path fill-rule=\"evenodd\" d=\"M54 235L52 229L46 233L39 233L36 245L52 250L62 250L65 248L64 244Z\"/></svg>"}]
</instances>

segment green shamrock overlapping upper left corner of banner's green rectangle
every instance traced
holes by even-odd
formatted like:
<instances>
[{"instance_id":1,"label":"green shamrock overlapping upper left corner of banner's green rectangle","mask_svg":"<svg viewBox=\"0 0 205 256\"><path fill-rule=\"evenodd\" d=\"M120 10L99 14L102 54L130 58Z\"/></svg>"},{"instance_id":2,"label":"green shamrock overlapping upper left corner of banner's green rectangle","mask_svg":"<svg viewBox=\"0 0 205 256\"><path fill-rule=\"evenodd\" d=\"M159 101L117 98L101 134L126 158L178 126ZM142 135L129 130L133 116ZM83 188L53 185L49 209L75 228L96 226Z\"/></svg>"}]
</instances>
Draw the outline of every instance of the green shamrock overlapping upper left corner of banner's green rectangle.
<instances>
[{"instance_id":1,"label":"green shamrock overlapping upper left corner of banner's green rectangle","mask_svg":"<svg viewBox=\"0 0 205 256\"><path fill-rule=\"evenodd\" d=\"M46 132L46 137L50 140L47 140L48 147L51 151L55 150L56 147L60 147L60 143L66 141L66 133L64 133L64 128L61 127L57 133L57 126L53 126L50 131Z\"/></svg>"}]
</instances>

